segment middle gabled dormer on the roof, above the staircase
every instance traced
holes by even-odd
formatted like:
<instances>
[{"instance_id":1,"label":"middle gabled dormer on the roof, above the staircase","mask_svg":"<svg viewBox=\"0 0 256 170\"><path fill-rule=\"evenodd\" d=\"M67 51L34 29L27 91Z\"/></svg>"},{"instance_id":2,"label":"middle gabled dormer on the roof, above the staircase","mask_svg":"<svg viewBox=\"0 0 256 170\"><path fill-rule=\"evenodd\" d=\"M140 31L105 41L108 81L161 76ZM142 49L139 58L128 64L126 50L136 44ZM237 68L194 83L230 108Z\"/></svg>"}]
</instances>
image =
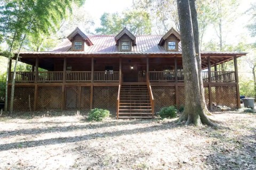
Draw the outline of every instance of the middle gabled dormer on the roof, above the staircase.
<instances>
[{"instance_id":1,"label":"middle gabled dormer on the roof, above the staircase","mask_svg":"<svg viewBox=\"0 0 256 170\"><path fill-rule=\"evenodd\" d=\"M115 40L119 51L131 51L136 45L136 37L126 28L115 36Z\"/></svg>"}]
</instances>

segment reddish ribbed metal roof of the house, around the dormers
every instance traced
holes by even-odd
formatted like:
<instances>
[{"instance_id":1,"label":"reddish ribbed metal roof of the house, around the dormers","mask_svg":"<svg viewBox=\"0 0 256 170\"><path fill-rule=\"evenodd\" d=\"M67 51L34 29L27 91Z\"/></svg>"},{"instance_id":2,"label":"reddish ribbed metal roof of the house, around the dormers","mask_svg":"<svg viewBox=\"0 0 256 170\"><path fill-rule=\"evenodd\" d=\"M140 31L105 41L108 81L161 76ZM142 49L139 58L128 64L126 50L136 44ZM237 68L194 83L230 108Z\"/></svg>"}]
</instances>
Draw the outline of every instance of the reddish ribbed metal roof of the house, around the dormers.
<instances>
[{"instance_id":1,"label":"reddish ribbed metal roof of the house, around the dormers","mask_svg":"<svg viewBox=\"0 0 256 170\"><path fill-rule=\"evenodd\" d=\"M92 41L92 46L85 46L83 52L70 51L71 42L68 39L63 42L52 51L49 52L22 52L20 54L179 54L181 55L181 43L179 43L179 50L177 52L166 51L163 46L159 46L158 43L163 36L136 36L136 45L132 46L130 52L118 51L116 46L115 36L87 36ZM201 52L203 56L243 56L246 55L244 52Z\"/></svg>"}]
</instances>

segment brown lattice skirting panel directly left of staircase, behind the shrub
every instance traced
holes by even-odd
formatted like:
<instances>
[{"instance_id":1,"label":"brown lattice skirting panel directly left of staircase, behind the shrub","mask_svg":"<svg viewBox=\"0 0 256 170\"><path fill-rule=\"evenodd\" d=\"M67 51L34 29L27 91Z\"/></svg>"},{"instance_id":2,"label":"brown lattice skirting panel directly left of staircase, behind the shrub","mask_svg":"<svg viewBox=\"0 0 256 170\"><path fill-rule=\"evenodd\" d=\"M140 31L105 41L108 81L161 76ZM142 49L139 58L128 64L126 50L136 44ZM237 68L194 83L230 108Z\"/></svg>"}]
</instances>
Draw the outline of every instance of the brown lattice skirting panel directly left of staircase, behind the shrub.
<instances>
[{"instance_id":1,"label":"brown lattice skirting panel directly left of staircase, behind the shrub","mask_svg":"<svg viewBox=\"0 0 256 170\"><path fill-rule=\"evenodd\" d=\"M116 114L118 87L93 87L93 108L108 109Z\"/></svg>"}]
</instances>

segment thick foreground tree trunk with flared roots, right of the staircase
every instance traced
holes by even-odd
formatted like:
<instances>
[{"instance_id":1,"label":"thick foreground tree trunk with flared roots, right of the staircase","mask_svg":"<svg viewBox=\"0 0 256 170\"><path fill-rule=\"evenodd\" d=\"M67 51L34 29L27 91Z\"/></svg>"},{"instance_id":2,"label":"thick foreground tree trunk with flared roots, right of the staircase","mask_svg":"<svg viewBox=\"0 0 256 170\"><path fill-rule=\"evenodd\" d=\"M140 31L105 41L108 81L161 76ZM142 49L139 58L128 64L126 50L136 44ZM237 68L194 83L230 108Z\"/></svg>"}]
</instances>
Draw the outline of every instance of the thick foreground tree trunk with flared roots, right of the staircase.
<instances>
[{"instance_id":1,"label":"thick foreground tree trunk with flared roots, right of the staircase","mask_svg":"<svg viewBox=\"0 0 256 170\"><path fill-rule=\"evenodd\" d=\"M198 72L198 56L196 56L189 0L177 0L177 4L180 21L182 64L185 79L185 110L180 116L179 122L186 121L186 125L194 123L197 126L201 126L202 123L204 123L213 126L214 124L206 116L202 104L202 86L199 79L201 76Z\"/></svg>"}]
</instances>

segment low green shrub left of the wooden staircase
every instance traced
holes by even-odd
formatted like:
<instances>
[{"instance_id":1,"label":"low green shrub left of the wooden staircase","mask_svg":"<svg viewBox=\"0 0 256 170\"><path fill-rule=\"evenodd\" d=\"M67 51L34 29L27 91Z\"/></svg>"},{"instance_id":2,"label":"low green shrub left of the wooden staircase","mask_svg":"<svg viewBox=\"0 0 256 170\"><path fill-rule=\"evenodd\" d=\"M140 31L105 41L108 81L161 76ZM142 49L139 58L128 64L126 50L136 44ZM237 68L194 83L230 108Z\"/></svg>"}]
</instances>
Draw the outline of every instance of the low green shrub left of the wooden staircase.
<instances>
[{"instance_id":1,"label":"low green shrub left of the wooden staircase","mask_svg":"<svg viewBox=\"0 0 256 170\"><path fill-rule=\"evenodd\" d=\"M104 118L109 117L109 111L100 109L100 108L94 108L88 113L88 121L102 121Z\"/></svg>"}]
</instances>

